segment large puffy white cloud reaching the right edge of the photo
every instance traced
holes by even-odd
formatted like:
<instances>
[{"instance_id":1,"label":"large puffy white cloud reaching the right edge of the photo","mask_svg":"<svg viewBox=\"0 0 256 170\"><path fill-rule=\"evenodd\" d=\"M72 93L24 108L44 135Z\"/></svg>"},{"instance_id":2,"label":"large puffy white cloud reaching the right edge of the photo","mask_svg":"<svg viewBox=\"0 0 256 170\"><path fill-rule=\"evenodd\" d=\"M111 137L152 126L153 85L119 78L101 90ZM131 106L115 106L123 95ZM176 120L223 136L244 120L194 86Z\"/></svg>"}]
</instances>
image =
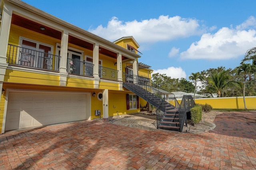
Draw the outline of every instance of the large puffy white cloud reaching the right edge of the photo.
<instances>
[{"instance_id":1,"label":"large puffy white cloud reaching the right edge of the photo","mask_svg":"<svg viewBox=\"0 0 256 170\"><path fill-rule=\"evenodd\" d=\"M187 51L180 53L182 59L223 60L244 56L246 51L256 44L256 30L240 30L246 26L255 25L255 19L247 21L233 29L222 27L216 33L205 33L200 41L190 45ZM254 24L253 24L254 23Z\"/></svg>"}]
</instances>

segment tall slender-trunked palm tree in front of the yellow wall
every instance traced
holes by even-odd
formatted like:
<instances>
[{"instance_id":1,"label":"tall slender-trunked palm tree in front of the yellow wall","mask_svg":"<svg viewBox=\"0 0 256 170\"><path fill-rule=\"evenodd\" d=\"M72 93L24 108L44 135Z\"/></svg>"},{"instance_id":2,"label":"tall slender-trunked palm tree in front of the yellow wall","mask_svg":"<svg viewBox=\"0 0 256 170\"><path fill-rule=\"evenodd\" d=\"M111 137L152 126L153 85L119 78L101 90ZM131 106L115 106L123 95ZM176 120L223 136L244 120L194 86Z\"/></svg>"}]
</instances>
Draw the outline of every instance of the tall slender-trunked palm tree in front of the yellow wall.
<instances>
[{"instance_id":1,"label":"tall slender-trunked palm tree in front of the yellow wall","mask_svg":"<svg viewBox=\"0 0 256 170\"><path fill-rule=\"evenodd\" d=\"M240 66L236 67L236 70L238 72L238 74L242 73L244 74L244 89L243 89L243 98L244 98L244 109L246 108L246 102L245 102L245 84L246 84L246 80L247 78L249 78L249 81L252 80L252 74L255 70L255 65L251 65L251 64L246 64L246 63L242 63Z\"/></svg>"}]
</instances>

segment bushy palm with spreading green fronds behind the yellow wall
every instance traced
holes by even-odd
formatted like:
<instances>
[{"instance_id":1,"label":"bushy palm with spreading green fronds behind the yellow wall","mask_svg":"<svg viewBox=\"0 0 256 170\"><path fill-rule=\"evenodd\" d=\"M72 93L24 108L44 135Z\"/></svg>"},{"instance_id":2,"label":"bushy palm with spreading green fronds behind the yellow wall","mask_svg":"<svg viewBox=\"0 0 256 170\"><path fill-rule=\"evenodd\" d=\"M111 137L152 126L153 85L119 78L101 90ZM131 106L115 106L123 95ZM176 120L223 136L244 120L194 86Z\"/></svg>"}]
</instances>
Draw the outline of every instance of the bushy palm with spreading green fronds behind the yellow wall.
<instances>
[{"instance_id":1,"label":"bushy palm with spreading green fronds behind the yellow wall","mask_svg":"<svg viewBox=\"0 0 256 170\"><path fill-rule=\"evenodd\" d=\"M227 74L227 70L221 72L213 72L209 78L209 85L207 86L208 91L217 91L218 97L222 97L222 90L230 86L241 87L239 82L230 81L231 76Z\"/></svg>"}]
</instances>

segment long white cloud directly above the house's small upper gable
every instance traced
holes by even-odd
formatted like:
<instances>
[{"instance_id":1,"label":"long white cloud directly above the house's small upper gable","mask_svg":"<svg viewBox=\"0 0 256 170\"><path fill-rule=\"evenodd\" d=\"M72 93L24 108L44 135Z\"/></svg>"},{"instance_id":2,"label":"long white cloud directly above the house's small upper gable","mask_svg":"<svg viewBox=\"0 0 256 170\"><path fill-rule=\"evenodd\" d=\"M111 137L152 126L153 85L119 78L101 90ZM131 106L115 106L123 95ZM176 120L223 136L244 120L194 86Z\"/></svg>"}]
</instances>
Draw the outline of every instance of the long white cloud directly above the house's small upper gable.
<instances>
[{"instance_id":1,"label":"long white cloud directly above the house's small upper gable","mask_svg":"<svg viewBox=\"0 0 256 170\"><path fill-rule=\"evenodd\" d=\"M140 43L154 43L198 35L202 33L199 27L198 20L180 16L159 16L157 19L126 22L113 17L106 27L99 25L89 31L110 41L132 35Z\"/></svg>"}]
</instances>

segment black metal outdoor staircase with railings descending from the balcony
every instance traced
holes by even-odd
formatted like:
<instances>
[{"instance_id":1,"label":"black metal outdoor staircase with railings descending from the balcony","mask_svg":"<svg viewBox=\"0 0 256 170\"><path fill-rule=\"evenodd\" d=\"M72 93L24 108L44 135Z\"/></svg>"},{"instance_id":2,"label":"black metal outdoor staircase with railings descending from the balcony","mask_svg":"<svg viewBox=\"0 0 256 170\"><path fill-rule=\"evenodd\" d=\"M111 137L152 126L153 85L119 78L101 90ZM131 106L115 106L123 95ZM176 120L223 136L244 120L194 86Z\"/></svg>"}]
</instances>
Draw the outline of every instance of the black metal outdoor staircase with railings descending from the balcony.
<instances>
[{"instance_id":1,"label":"black metal outdoor staircase with railings descending from the balcony","mask_svg":"<svg viewBox=\"0 0 256 170\"><path fill-rule=\"evenodd\" d=\"M156 107L156 127L172 131L182 131L186 117L180 117L178 104L174 94L136 77L123 73L123 87ZM183 123L181 125L181 123Z\"/></svg>"}]
</instances>

